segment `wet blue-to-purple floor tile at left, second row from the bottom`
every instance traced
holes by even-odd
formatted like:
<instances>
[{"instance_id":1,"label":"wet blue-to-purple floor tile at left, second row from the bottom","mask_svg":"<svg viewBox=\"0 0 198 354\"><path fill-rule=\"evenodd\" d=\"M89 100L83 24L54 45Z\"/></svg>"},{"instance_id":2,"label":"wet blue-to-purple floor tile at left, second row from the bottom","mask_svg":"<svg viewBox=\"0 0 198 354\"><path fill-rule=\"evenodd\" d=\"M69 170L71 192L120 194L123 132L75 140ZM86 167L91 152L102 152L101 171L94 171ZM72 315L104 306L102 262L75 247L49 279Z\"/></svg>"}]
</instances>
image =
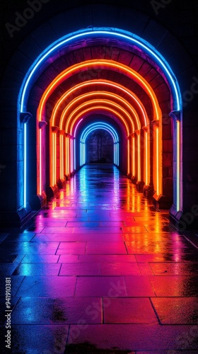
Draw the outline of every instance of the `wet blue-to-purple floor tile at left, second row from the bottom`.
<instances>
[{"instance_id":1,"label":"wet blue-to-purple floor tile at left, second row from the bottom","mask_svg":"<svg viewBox=\"0 0 198 354\"><path fill-rule=\"evenodd\" d=\"M97 297L22 297L12 313L12 324L101 324L102 319Z\"/></svg>"}]
</instances>

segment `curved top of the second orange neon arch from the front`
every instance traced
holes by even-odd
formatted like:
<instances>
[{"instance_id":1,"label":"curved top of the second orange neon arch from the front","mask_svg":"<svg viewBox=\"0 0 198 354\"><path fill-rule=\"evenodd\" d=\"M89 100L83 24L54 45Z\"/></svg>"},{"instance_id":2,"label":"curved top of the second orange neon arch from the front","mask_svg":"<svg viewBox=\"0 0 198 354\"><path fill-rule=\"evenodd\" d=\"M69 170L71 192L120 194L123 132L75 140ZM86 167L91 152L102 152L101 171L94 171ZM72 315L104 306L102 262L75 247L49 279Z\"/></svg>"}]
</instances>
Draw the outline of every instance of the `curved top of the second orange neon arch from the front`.
<instances>
[{"instance_id":1,"label":"curved top of the second orange neon arch from the front","mask_svg":"<svg viewBox=\"0 0 198 354\"><path fill-rule=\"evenodd\" d=\"M64 103L68 97L72 96L72 94L74 92L78 92L80 90L80 93L83 93L83 89L87 89L90 88L91 86L95 86L95 85L103 85L106 86L107 88L113 88L113 89L119 89L122 93L126 94L127 93L127 97L131 98L133 101L133 107L135 107L136 110L139 110L139 118L143 118L142 120L142 126L147 126L149 124L149 120L148 120L148 116L146 114L146 110L144 108L143 103L141 103L141 101L139 100L139 98L132 93L132 91L129 91L128 89L125 89L124 86L120 85L120 84L115 84L112 83L112 81L107 81L107 80L91 80L91 81L87 81L84 82L83 84L78 84L74 87L72 87L71 89L69 89L69 91L66 91L66 93L64 93L64 95L59 98L59 100L57 101L57 103L54 105L54 109L52 111L52 125L58 125L58 122L56 122L56 118L57 118L57 113L59 111L60 106L62 105L62 103ZM91 91L93 92L93 91ZM98 93L98 91L95 91L96 93ZM99 91L100 92L100 91ZM105 92L105 91L104 91ZM107 91L109 92L109 91ZM118 95L117 95L118 96ZM122 96L119 96L122 97ZM127 101L127 100L125 100ZM128 101L127 101L128 102Z\"/></svg>"}]
</instances>

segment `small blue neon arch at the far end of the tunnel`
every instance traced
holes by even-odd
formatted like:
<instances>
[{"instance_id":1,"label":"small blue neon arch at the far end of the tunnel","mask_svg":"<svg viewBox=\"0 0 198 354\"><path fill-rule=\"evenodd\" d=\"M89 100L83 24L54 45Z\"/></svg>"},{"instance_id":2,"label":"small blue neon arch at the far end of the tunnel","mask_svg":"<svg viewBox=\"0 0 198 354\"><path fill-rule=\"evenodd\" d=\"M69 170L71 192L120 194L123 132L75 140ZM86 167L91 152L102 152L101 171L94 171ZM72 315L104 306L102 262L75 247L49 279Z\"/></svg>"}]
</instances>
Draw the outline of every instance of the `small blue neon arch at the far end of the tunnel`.
<instances>
[{"instance_id":1,"label":"small blue neon arch at the far end of the tunnel","mask_svg":"<svg viewBox=\"0 0 198 354\"><path fill-rule=\"evenodd\" d=\"M86 138L94 130L103 129L110 133L114 142L114 164L119 166L119 137L116 130L105 122L95 122L88 125L82 132L80 137L80 166L86 163Z\"/></svg>"}]
</instances>

